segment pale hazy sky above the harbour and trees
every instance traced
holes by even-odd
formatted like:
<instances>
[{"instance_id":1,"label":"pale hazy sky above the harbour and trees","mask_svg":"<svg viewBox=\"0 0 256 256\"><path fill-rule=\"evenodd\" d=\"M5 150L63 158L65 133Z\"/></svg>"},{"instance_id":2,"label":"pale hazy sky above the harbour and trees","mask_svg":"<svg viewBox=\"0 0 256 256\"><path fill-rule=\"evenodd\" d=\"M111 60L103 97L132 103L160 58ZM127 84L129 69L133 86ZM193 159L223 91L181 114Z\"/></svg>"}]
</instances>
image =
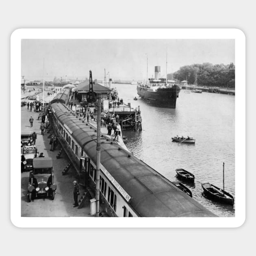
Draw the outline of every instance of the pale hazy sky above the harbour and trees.
<instances>
[{"instance_id":1,"label":"pale hazy sky above the harbour and trees","mask_svg":"<svg viewBox=\"0 0 256 256\"><path fill-rule=\"evenodd\" d=\"M209 62L235 64L234 39L22 39L22 76L26 80L56 78L143 80L184 65Z\"/></svg>"}]
</instances>

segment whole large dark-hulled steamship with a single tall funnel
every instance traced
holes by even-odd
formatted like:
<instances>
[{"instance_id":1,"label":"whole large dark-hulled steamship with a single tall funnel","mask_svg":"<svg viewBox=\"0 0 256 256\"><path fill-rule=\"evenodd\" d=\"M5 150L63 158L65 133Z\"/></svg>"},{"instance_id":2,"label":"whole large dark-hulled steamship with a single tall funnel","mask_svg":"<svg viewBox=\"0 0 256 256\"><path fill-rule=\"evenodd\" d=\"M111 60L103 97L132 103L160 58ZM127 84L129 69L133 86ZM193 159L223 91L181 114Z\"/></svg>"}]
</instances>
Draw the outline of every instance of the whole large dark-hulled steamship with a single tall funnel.
<instances>
[{"instance_id":1,"label":"whole large dark-hulled steamship with a single tall funnel","mask_svg":"<svg viewBox=\"0 0 256 256\"><path fill-rule=\"evenodd\" d=\"M148 84L137 84L137 93L143 100L163 108L176 108L179 92L176 81L160 78L160 66L155 66L155 78L150 78Z\"/></svg>"}]
</instances>

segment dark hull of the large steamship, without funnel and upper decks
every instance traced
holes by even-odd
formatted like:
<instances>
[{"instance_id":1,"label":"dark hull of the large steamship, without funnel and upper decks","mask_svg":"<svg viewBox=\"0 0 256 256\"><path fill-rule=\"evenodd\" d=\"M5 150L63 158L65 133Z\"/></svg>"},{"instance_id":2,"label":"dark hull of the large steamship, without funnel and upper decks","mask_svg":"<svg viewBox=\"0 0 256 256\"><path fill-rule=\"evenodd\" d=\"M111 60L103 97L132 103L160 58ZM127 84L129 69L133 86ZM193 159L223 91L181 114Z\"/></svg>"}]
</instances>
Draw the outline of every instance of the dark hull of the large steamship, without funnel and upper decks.
<instances>
[{"instance_id":1,"label":"dark hull of the large steamship, without funnel and upper decks","mask_svg":"<svg viewBox=\"0 0 256 256\"><path fill-rule=\"evenodd\" d=\"M145 87L137 86L137 93L143 100L163 108L176 108L179 92L179 87L149 91Z\"/></svg>"}]
</instances>

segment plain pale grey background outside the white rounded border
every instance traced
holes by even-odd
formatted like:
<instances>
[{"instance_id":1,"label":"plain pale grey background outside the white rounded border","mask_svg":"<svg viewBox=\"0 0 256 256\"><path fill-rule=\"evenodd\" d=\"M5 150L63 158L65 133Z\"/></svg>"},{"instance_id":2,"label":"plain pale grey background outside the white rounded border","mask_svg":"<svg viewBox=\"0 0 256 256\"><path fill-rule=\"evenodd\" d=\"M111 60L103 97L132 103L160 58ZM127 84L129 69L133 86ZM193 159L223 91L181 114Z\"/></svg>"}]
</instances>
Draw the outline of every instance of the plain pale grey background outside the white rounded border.
<instances>
[{"instance_id":1,"label":"plain pale grey background outside the white rounded border","mask_svg":"<svg viewBox=\"0 0 256 256\"><path fill-rule=\"evenodd\" d=\"M9 1L1 2L3 137L1 168L1 251L28 255L239 255L254 247L253 168L255 138L256 35L254 4L249 1ZM151 16L152 15L152 16ZM240 228L176 229L31 229L10 221L10 36L17 28L239 28L246 36L246 221ZM239 85L236 85L239 86ZM20 87L17 86L19 89ZM13 102L12 102L13 104ZM7 107L4 107L7 106ZM17 111L20 105L17 104ZM17 171L19 173L19 171ZM38 236L49 236L43 245ZM36 239L35 239L36 238ZM185 242L184 242L185 241ZM47 248L47 249L46 249Z\"/></svg>"}]
</instances>

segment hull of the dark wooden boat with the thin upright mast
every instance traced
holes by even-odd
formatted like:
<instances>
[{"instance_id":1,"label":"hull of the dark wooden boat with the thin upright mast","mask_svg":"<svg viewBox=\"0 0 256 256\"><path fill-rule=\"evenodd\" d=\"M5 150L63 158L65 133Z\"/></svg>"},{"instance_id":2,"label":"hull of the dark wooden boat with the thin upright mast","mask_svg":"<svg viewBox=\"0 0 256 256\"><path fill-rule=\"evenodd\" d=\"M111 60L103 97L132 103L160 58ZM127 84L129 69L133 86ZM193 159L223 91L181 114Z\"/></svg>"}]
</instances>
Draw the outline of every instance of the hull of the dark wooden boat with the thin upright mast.
<instances>
[{"instance_id":1,"label":"hull of the dark wooden boat with the thin upright mast","mask_svg":"<svg viewBox=\"0 0 256 256\"><path fill-rule=\"evenodd\" d=\"M202 188L205 196L217 202L234 205L234 197L230 195L230 193L223 191L223 189L220 189L209 182L202 183Z\"/></svg>"}]
</instances>

